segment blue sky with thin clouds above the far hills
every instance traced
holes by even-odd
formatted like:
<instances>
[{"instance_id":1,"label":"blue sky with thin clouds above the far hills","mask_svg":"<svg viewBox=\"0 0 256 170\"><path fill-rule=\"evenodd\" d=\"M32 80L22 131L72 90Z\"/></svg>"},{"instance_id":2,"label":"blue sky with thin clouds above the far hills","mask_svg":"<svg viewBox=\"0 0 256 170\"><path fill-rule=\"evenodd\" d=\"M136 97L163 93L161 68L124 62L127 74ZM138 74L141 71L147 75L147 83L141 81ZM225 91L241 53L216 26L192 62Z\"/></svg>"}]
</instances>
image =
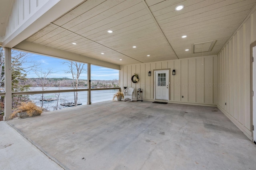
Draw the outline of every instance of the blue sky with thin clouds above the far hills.
<instances>
[{"instance_id":1,"label":"blue sky with thin clouds above the far hills","mask_svg":"<svg viewBox=\"0 0 256 170\"><path fill-rule=\"evenodd\" d=\"M35 61L39 63L39 69L47 70L52 69L50 75L47 78L72 78L71 73L66 73L65 71L69 70L68 65L64 64L66 60L54 58L54 57L46 57L37 54L29 54L28 60ZM24 64L26 66L26 64ZM86 67L87 68L87 67ZM30 71L28 73L27 78L38 78L34 71ZM87 79L87 73L83 73L80 75L79 79ZM106 68L102 66L91 65L91 80L114 80L119 79L119 70Z\"/></svg>"}]
</instances>

